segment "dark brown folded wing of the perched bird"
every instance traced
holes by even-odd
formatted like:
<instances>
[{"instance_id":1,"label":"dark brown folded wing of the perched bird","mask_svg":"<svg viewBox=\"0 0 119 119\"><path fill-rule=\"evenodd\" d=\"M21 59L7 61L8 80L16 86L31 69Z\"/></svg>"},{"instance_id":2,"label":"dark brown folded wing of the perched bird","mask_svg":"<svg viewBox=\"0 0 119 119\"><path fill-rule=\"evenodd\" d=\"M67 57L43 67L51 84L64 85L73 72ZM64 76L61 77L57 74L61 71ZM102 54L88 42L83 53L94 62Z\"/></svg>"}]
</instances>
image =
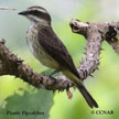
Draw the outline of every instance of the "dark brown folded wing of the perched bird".
<instances>
[{"instance_id":1,"label":"dark brown folded wing of the perched bird","mask_svg":"<svg viewBox=\"0 0 119 119\"><path fill-rule=\"evenodd\" d=\"M79 78L79 74L62 41L56 36L52 28L42 28L39 31L39 42L43 48L62 66L69 69Z\"/></svg>"}]
</instances>

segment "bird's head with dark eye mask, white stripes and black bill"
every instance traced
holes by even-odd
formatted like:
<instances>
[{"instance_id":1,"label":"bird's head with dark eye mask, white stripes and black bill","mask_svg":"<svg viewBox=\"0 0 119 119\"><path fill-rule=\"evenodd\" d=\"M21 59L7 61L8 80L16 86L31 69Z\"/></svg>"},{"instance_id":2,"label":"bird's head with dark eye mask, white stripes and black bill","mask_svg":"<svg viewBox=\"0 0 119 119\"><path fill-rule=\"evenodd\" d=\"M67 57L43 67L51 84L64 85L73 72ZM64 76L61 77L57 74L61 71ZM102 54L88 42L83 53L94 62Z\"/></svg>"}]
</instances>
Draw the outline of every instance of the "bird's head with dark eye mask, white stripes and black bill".
<instances>
[{"instance_id":1,"label":"bird's head with dark eye mask, white stripes and black bill","mask_svg":"<svg viewBox=\"0 0 119 119\"><path fill-rule=\"evenodd\" d=\"M51 24L51 17L48 12L42 7L30 7L25 11L18 14L26 17L31 22L39 22L41 24Z\"/></svg>"}]
</instances>

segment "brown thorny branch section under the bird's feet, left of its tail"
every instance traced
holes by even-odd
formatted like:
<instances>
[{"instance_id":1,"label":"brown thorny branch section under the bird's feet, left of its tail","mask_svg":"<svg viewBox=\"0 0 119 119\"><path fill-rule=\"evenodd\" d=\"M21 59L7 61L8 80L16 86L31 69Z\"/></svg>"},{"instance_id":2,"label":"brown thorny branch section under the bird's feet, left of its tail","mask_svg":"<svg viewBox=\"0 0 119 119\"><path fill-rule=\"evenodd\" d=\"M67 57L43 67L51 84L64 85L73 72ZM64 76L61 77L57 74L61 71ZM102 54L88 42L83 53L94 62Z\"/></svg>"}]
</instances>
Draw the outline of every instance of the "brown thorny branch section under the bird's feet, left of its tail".
<instances>
[{"instance_id":1,"label":"brown thorny branch section under the bird's feet, left of its tail","mask_svg":"<svg viewBox=\"0 0 119 119\"><path fill-rule=\"evenodd\" d=\"M0 76L13 75L24 82L35 86L36 88L46 88L50 90L63 90L73 84L64 78L52 79L32 71L32 68L23 64L23 61L12 54L4 45L4 40L0 41Z\"/></svg>"}]
</instances>

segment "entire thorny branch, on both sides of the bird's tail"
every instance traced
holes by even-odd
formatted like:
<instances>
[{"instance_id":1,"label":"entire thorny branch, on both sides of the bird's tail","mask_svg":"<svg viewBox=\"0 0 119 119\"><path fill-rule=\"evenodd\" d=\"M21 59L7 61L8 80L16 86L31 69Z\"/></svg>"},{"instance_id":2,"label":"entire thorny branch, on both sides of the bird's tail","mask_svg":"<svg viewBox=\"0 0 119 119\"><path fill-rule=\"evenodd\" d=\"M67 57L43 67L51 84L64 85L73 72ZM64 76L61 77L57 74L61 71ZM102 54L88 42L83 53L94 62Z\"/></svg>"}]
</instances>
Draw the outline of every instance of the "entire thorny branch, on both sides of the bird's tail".
<instances>
[{"instance_id":1,"label":"entire thorny branch, on both sides of the bird's tail","mask_svg":"<svg viewBox=\"0 0 119 119\"><path fill-rule=\"evenodd\" d=\"M82 61L78 68L80 79L84 80L98 69L99 54L104 40L106 40L115 51L118 51L117 42L113 43L113 41L119 36L119 22L83 23L78 20L72 20L69 25L74 33L84 35L87 41L86 57ZM48 90L64 90L74 86L65 76L58 76L52 79L48 76L35 73L29 65L24 64L21 58L7 48L3 40L0 41L0 76L2 75L13 75L36 88L45 88Z\"/></svg>"}]
</instances>

